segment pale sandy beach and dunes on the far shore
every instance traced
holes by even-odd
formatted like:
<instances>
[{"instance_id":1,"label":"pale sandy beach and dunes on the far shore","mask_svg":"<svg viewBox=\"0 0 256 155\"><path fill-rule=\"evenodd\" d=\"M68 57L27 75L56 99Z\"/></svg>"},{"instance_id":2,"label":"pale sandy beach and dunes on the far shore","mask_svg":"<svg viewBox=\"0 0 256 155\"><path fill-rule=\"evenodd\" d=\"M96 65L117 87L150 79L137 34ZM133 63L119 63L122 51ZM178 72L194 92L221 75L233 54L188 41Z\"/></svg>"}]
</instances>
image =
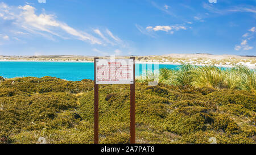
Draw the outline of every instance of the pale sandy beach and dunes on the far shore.
<instances>
[{"instance_id":1,"label":"pale sandy beach and dunes on the far shore","mask_svg":"<svg viewBox=\"0 0 256 155\"><path fill-rule=\"evenodd\" d=\"M75 59L76 60L61 60L62 58ZM123 58L127 56L115 56L116 58ZM48 58L48 60L42 59ZM13 61L13 62L93 62L84 60L86 58L90 58L92 60L92 56L0 56L0 61ZM106 58L106 57L105 57ZM109 58L109 57L108 57ZM139 59L144 58L144 59ZM155 59L157 58L157 59ZM177 62L172 62L168 60L168 58L175 58ZM200 60L200 63L198 62ZM232 65L232 61L236 60L237 62ZM208 54L170 54L170 55L162 55L162 56L137 56L137 60L135 63L137 64L165 64L165 65L181 65L182 63L193 64L193 65L216 65L225 68L231 68L234 65L245 65L251 69L256 69L256 63L251 63L251 61L255 62L256 57L246 57L246 56L237 56L237 55L208 55ZM216 63L215 61L225 61L225 64ZM212 63L215 62L215 63Z\"/></svg>"}]
</instances>

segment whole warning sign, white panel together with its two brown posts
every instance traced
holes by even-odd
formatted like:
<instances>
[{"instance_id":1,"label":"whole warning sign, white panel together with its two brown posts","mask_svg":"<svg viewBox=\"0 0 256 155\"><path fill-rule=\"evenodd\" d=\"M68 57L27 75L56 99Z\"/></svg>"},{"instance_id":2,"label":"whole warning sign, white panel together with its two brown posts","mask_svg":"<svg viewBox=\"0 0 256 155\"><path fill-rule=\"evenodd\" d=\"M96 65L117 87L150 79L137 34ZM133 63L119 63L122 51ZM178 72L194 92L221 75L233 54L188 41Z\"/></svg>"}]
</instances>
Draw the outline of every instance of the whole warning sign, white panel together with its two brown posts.
<instances>
[{"instance_id":1,"label":"whole warning sign, white panel together with its two brown posts","mask_svg":"<svg viewBox=\"0 0 256 155\"><path fill-rule=\"evenodd\" d=\"M94 58L94 143L98 144L98 85L130 84L130 143L135 143L135 57Z\"/></svg>"}]
</instances>

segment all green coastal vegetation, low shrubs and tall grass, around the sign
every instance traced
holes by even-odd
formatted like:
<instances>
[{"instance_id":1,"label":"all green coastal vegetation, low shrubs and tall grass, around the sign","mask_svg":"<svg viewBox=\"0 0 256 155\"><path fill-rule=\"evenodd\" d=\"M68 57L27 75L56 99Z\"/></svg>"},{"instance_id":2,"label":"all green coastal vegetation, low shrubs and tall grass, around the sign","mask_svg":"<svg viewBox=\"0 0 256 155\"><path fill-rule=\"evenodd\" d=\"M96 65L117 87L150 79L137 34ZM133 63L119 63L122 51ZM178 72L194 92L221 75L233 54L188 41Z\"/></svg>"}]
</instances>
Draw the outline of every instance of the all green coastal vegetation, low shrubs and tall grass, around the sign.
<instances>
[{"instance_id":1,"label":"all green coastal vegetation, low shrubs and tall grass, around the sign","mask_svg":"<svg viewBox=\"0 0 256 155\"><path fill-rule=\"evenodd\" d=\"M182 65L136 82L137 143L256 143L255 72ZM99 86L100 143L129 143L130 85ZM0 77L0 143L93 143L93 81Z\"/></svg>"}]
</instances>

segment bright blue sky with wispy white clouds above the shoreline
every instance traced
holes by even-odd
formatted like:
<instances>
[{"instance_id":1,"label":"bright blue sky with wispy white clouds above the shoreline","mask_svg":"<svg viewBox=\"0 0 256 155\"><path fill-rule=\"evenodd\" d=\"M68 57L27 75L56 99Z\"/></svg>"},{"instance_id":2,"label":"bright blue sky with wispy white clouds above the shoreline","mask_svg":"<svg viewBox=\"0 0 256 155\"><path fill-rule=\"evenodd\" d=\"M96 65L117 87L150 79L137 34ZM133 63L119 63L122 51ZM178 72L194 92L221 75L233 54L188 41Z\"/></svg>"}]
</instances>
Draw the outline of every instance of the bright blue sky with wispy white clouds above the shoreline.
<instances>
[{"instance_id":1,"label":"bright blue sky with wispy white clouds above the shoreline","mask_svg":"<svg viewBox=\"0 0 256 155\"><path fill-rule=\"evenodd\" d=\"M0 0L0 55L256 54L255 0Z\"/></svg>"}]
</instances>

